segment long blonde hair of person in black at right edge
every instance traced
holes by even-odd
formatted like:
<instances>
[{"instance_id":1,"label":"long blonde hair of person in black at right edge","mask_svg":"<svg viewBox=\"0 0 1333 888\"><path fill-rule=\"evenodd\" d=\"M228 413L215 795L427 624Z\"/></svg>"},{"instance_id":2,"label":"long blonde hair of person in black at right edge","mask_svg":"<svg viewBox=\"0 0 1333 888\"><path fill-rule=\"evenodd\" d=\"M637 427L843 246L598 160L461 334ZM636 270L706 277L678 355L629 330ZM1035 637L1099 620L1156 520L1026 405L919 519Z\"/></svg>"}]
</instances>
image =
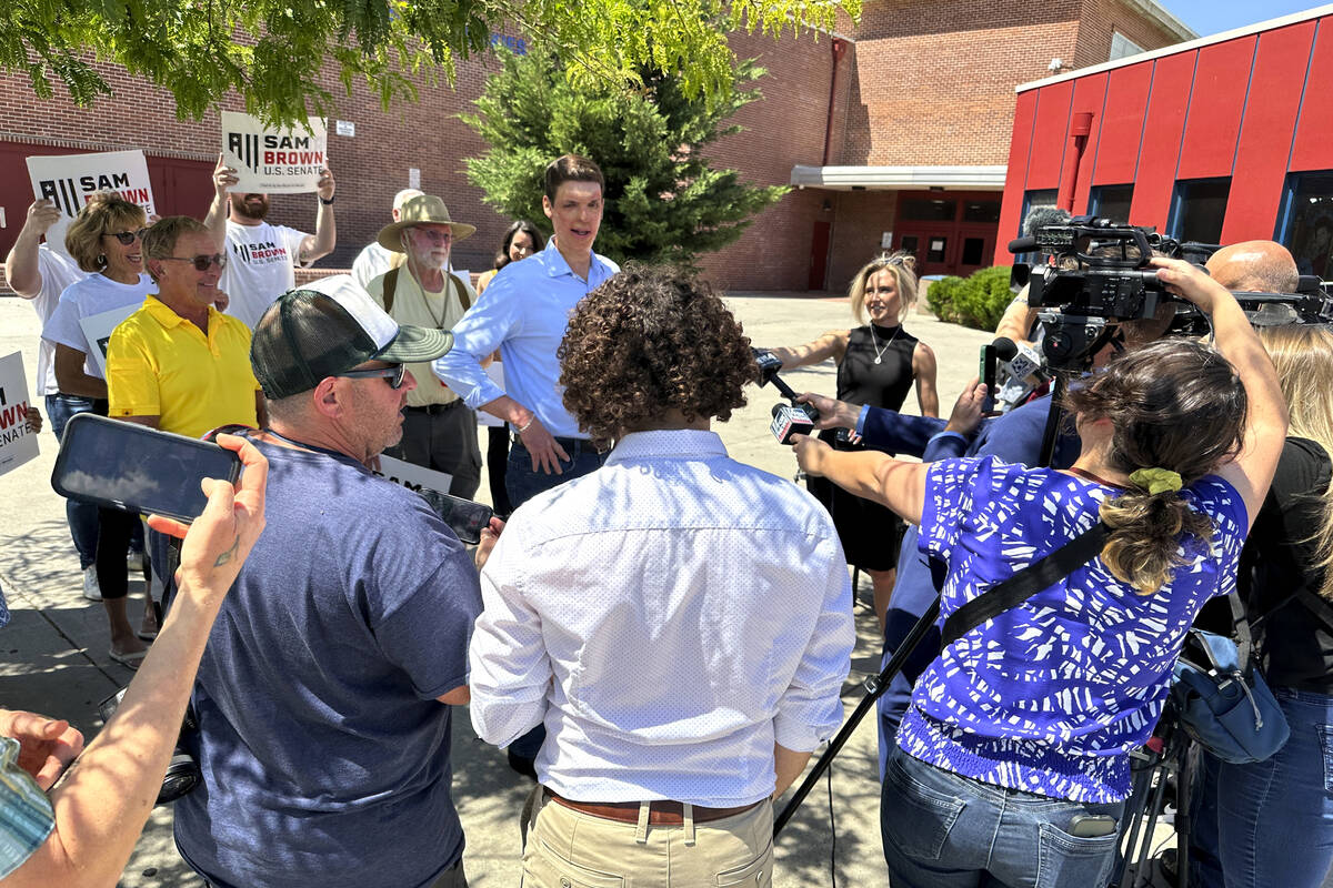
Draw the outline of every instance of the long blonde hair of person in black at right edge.
<instances>
[{"instance_id":1,"label":"long blonde hair of person in black at right edge","mask_svg":"<svg viewBox=\"0 0 1333 888\"><path fill-rule=\"evenodd\" d=\"M1288 434L1308 438L1333 454L1333 330L1284 324L1256 328L1277 369L1277 381L1290 414ZM1318 592L1333 600L1333 490L1324 491L1324 517L1308 538L1318 550L1324 571Z\"/></svg>"}]
</instances>

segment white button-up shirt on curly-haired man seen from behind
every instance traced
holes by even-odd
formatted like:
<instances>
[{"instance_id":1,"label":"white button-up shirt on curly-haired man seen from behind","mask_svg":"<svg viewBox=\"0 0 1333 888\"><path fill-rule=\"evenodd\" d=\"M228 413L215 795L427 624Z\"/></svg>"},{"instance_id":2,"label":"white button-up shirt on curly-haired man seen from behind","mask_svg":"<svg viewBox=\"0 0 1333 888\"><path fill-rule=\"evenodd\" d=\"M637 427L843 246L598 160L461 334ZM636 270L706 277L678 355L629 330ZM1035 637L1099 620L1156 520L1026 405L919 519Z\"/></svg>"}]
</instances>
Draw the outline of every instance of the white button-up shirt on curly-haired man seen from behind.
<instances>
[{"instance_id":1,"label":"white button-up shirt on curly-haired man seen from behind","mask_svg":"<svg viewBox=\"0 0 1333 888\"><path fill-rule=\"evenodd\" d=\"M599 471L515 514L481 574L472 724L539 723L537 776L583 801L742 805L774 742L842 720L854 632L828 513L712 431L627 435Z\"/></svg>"}]
</instances>

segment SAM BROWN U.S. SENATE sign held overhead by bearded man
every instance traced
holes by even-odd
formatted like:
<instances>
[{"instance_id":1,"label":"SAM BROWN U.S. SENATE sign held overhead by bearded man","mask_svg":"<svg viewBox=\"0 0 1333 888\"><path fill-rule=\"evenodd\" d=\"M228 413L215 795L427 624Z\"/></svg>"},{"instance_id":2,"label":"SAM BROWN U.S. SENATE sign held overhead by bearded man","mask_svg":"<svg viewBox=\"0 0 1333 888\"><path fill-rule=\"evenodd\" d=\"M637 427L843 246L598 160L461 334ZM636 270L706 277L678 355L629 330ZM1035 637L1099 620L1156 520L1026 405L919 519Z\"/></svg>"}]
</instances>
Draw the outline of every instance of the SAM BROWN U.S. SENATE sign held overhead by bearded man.
<instances>
[{"instance_id":1,"label":"SAM BROWN U.S. SENATE sign held overhead by bearded man","mask_svg":"<svg viewBox=\"0 0 1333 888\"><path fill-rule=\"evenodd\" d=\"M265 126L253 114L223 112L223 160L239 180L239 194L300 194L319 188L327 164L328 130L319 117L305 129Z\"/></svg>"}]
</instances>

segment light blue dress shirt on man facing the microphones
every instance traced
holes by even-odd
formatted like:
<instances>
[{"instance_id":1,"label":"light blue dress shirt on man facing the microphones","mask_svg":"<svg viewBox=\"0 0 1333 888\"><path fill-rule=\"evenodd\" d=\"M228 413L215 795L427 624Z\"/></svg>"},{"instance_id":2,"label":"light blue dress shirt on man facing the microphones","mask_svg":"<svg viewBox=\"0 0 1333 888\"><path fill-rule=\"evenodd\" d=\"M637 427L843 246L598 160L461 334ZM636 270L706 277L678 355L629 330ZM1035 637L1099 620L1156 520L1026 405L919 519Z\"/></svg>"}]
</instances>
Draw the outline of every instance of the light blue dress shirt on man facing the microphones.
<instances>
[{"instance_id":1,"label":"light blue dress shirt on man facing the microphones","mask_svg":"<svg viewBox=\"0 0 1333 888\"><path fill-rule=\"evenodd\" d=\"M453 349L432 365L435 374L473 410L508 394L557 438L587 438L561 401L556 349L579 301L619 270L593 253L585 281L571 270L555 240L540 253L509 262L453 326ZM496 349L508 391L481 369Z\"/></svg>"}]
</instances>

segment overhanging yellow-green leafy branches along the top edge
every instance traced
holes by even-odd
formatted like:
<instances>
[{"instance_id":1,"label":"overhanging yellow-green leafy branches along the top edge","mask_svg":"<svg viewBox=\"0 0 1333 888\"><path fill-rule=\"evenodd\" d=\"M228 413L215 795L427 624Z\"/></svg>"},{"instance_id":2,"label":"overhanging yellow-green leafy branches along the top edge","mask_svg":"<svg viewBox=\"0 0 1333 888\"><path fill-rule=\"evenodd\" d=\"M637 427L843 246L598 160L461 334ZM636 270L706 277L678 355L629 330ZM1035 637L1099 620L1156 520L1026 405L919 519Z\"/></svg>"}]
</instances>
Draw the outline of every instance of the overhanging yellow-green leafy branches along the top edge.
<instances>
[{"instance_id":1,"label":"overhanging yellow-green leafy branches along the top edge","mask_svg":"<svg viewBox=\"0 0 1333 888\"><path fill-rule=\"evenodd\" d=\"M647 64L681 77L686 95L730 80L726 31L778 36L832 29L861 0L9 0L0 5L0 68L28 76L39 97L63 84L81 105L111 95L93 60L169 89L180 117L201 117L231 91L251 113L295 122L327 116L364 80L384 107L417 81L453 81L455 60L516 29L559 49L576 83L637 85Z\"/></svg>"}]
</instances>

